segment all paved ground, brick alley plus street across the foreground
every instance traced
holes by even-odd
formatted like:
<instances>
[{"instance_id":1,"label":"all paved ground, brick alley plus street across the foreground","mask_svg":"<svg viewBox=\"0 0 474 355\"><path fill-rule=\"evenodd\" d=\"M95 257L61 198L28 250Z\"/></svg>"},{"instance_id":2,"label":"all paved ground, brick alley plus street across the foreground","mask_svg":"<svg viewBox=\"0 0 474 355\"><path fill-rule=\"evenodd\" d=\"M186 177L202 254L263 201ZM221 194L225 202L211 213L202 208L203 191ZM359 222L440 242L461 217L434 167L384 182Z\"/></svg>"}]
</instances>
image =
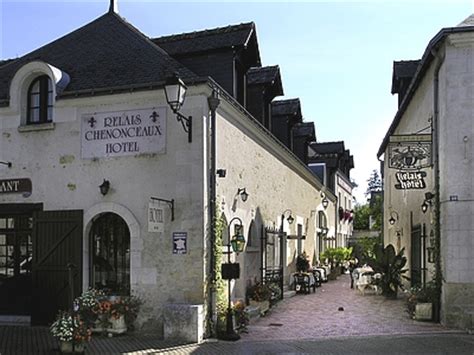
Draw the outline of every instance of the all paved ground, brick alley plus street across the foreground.
<instances>
[{"instance_id":1,"label":"all paved ground, brick alley plus street across the foreground","mask_svg":"<svg viewBox=\"0 0 474 355\"><path fill-rule=\"evenodd\" d=\"M474 336L409 319L403 299L361 295L348 275L285 299L237 342L180 345L156 336L94 337L86 354L474 354ZM344 311L339 311L343 307ZM0 355L59 354L47 327L0 326Z\"/></svg>"}]
</instances>

